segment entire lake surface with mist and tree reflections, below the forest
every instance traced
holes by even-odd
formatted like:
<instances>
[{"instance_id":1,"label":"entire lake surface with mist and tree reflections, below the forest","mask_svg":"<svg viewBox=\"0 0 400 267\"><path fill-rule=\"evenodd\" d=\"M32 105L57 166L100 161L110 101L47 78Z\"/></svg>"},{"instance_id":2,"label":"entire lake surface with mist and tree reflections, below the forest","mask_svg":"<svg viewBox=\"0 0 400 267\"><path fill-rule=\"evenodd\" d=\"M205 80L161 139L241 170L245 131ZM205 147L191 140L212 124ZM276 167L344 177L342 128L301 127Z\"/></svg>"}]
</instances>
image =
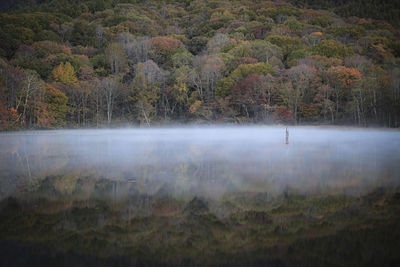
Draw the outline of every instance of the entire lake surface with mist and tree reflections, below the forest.
<instances>
[{"instance_id":1,"label":"entire lake surface with mist and tree reflections, below the forest","mask_svg":"<svg viewBox=\"0 0 400 267\"><path fill-rule=\"evenodd\" d=\"M0 134L0 266L400 266L400 132Z\"/></svg>"}]
</instances>

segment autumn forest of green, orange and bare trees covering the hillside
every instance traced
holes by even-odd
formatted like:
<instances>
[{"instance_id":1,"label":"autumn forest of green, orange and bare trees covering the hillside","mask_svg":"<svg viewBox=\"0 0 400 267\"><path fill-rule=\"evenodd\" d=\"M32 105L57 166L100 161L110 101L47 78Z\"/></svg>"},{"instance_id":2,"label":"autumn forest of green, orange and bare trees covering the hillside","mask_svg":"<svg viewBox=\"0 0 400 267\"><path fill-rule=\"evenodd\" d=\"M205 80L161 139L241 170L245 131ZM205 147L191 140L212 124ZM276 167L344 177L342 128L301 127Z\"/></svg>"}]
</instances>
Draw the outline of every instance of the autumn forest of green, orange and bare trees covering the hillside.
<instances>
[{"instance_id":1,"label":"autumn forest of green, orange and bare trees covering the hillside","mask_svg":"<svg viewBox=\"0 0 400 267\"><path fill-rule=\"evenodd\" d=\"M360 3L5 1L0 129L399 127L398 3Z\"/></svg>"}]
</instances>

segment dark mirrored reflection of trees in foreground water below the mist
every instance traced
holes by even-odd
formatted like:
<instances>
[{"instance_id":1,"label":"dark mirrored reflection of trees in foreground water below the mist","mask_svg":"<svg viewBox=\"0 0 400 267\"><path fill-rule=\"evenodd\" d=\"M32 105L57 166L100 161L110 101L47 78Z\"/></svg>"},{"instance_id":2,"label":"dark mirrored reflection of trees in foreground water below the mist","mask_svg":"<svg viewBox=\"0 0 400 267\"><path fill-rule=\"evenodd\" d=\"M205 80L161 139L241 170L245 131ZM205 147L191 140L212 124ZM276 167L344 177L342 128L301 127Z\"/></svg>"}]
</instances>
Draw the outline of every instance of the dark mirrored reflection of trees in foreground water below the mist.
<instances>
[{"instance_id":1,"label":"dark mirrored reflection of trees in foreground water below the mist","mask_svg":"<svg viewBox=\"0 0 400 267\"><path fill-rule=\"evenodd\" d=\"M102 179L90 198L50 199L52 179L41 186L47 199L0 201L0 265L386 266L398 261L400 192L395 189L358 197L290 189L275 197L237 192L215 201L172 197L167 185L151 196L126 182ZM124 190L132 194L121 199ZM10 264L16 256L19 265Z\"/></svg>"}]
</instances>

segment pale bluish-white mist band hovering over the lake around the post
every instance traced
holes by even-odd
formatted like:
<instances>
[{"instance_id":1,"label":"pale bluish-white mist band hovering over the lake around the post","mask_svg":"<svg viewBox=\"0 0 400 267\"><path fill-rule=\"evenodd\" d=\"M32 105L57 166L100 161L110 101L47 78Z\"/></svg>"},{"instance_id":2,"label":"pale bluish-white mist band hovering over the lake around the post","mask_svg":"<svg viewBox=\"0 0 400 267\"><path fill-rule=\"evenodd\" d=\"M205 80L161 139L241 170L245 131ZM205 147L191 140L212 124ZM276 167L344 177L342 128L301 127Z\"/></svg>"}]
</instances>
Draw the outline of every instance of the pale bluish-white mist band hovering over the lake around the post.
<instances>
[{"instance_id":1,"label":"pale bluish-white mist band hovering over the lake around the post","mask_svg":"<svg viewBox=\"0 0 400 267\"><path fill-rule=\"evenodd\" d=\"M112 180L121 196L214 198L359 194L400 182L400 133L391 130L289 127L288 145L284 127L27 131L1 134L0 147L1 198L49 176Z\"/></svg>"}]
</instances>

